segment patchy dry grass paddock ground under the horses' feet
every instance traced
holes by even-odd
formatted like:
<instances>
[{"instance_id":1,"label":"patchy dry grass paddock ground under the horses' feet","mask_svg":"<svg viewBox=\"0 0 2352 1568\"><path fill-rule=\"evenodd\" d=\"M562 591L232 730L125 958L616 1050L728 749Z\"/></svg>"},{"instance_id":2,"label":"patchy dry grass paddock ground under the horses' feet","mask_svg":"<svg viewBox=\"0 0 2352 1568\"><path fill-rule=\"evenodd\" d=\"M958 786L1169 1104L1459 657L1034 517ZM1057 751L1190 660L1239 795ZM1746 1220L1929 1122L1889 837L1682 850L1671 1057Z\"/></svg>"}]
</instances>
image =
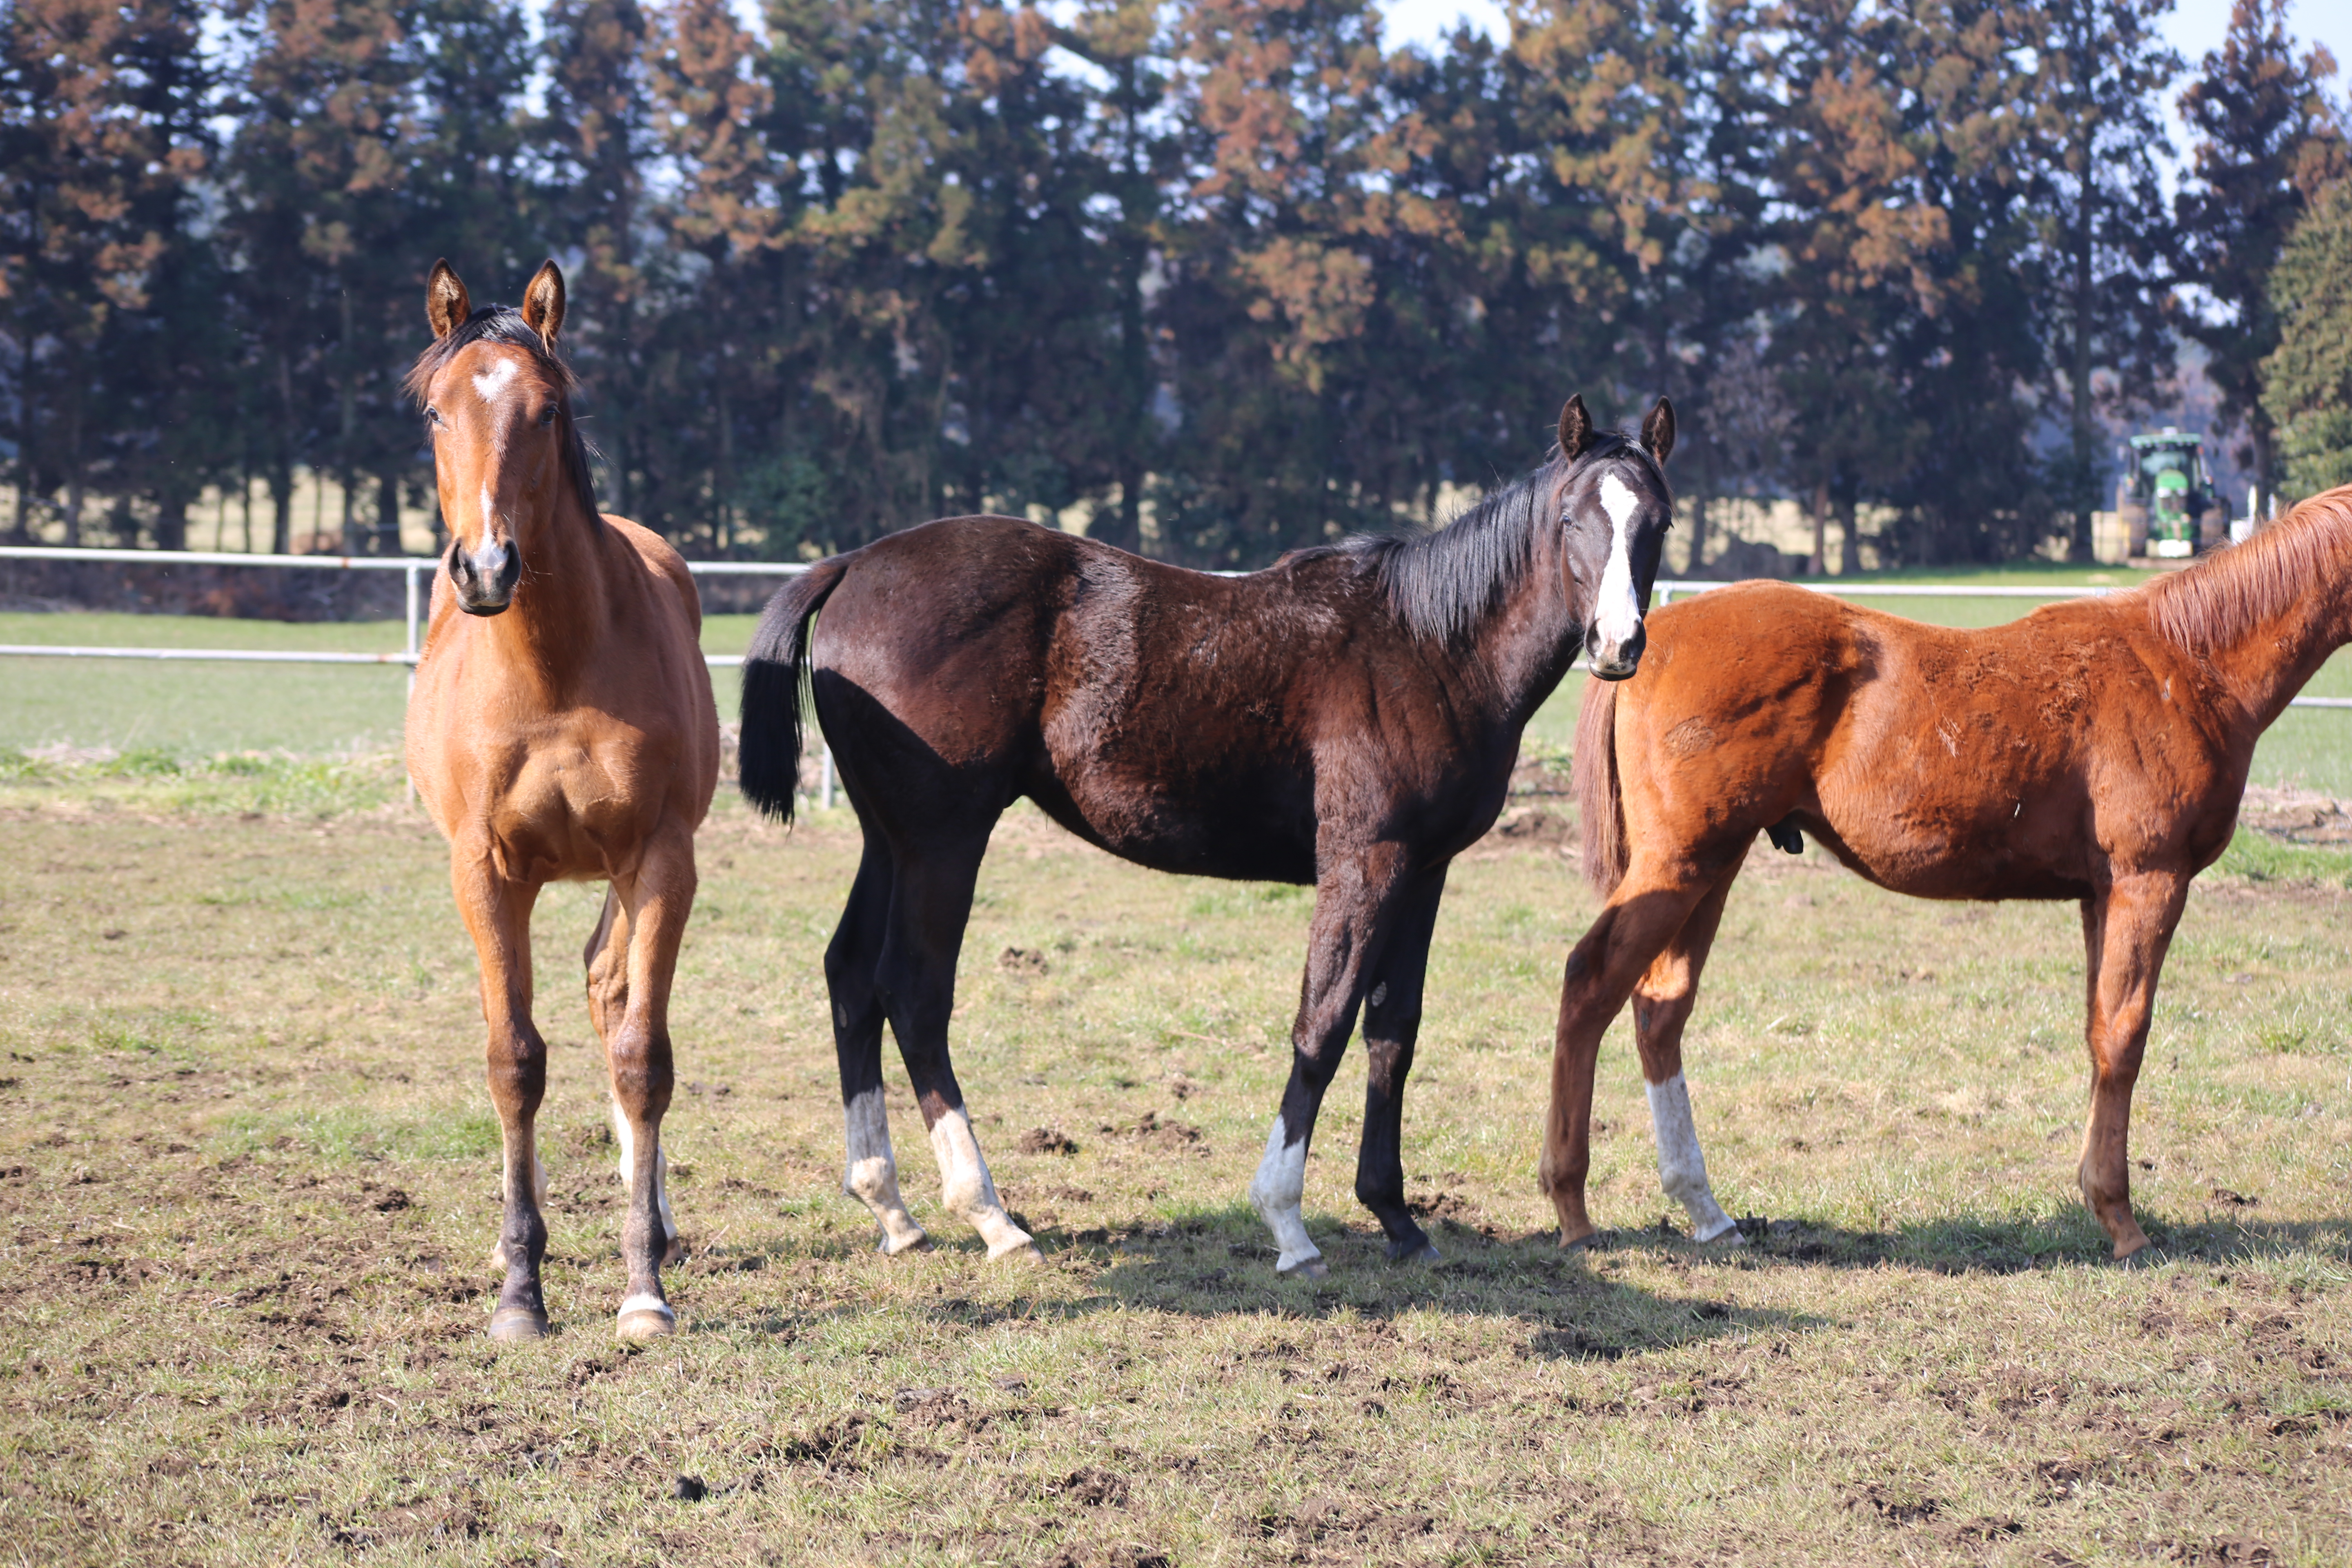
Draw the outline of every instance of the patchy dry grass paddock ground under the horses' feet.
<instances>
[{"instance_id":1,"label":"patchy dry grass paddock ground under the horses' feet","mask_svg":"<svg viewBox=\"0 0 2352 1568\"><path fill-rule=\"evenodd\" d=\"M612 1340L595 898L555 889L560 1333L492 1349L473 952L395 776L24 764L0 835L0 1540L24 1561L2352 1556L2345 856L2241 844L2192 896L2133 1143L2157 1262L2117 1269L2072 1194L2074 912L1905 903L1813 856L1743 879L1689 1046L1717 1192L1759 1244L1668 1220L1621 1030L1611 1232L1559 1255L1536 1117L1590 898L1550 835L1489 839L1406 1098L1449 1262L1392 1269L1348 1197L1350 1060L1308 1164L1334 1265L1310 1286L1275 1279L1242 1201L1305 893L1155 877L1011 816L957 1067L1044 1265L988 1265L936 1213L896 1067L938 1246L887 1260L837 1194L818 954L847 813L783 835L722 797L675 1011L682 1333Z\"/></svg>"}]
</instances>

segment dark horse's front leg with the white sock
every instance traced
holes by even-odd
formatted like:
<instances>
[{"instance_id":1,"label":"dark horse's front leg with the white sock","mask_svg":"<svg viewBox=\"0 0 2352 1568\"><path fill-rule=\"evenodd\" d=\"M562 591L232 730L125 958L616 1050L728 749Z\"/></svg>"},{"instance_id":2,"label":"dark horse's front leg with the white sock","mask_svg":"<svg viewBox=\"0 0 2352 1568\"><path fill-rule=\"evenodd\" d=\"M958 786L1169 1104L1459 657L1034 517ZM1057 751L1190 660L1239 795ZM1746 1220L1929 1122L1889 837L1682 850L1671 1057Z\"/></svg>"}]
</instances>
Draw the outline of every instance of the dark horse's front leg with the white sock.
<instances>
[{"instance_id":1,"label":"dark horse's front leg with the white sock","mask_svg":"<svg viewBox=\"0 0 2352 1568\"><path fill-rule=\"evenodd\" d=\"M1381 961L1383 943L1395 929L1399 893L1409 882L1404 849L1374 844L1369 849L1322 846L1322 879L1315 886L1315 924L1308 929L1308 971L1298 985L1298 1018L1291 1023L1291 1081L1282 1091L1282 1110L1265 1135L1265 1159L1249 1182L1249 1201L1275 1232L1277 1274L1322 1279L1331 1269L1322 1248L1308 1239L1301 1204L1308 1185L1308 1140L1322 1112L1324 1088L1338 1072L1355 1030L1355 1009L1364 994L1364 973ZM1367 1133L1369 1135L1369 1133ZM1397 1175L1402 1204L1402 1173ZM1406 1222L1411 1222L1406 1218ZM1414 1227L1418 1229L1418 1225ZM1395 1232L1390 1232L1395 1234ZM1423 1237L1428 1244L1428 1237Z\"/></svg>"}]
</instances>

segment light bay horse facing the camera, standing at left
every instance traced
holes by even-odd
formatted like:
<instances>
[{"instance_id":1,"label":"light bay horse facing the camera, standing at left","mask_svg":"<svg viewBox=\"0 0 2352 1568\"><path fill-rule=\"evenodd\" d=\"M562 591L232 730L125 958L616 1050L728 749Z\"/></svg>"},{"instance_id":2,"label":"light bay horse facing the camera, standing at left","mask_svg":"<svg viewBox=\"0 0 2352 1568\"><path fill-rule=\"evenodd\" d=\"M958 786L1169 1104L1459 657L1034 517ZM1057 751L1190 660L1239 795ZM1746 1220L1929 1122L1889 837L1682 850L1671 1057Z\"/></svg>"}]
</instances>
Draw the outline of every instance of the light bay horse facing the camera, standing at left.
<instances>
[{"instance_id":1,"label":"light bay horse facing the camera, standing at left","mask_svg":"<svg viewBox=\"0 0 2352 1568\"><path fill-rule=\"evenodd\" d=\"M694 907L694 827L720 771L694 578L670 545L595 510L555 353L564 275L522 310L475 310L447 261L426 282L433 343L409 371L433 435L445 571L409 698L409 778L449 837L456 907L482 959L489 1098L506 1143L506 1267L494 1340L548 1331L539 1260L546 1171L532 1133L548 1048L532 1025L532 903L548 882L607 882L588 938L588 1018L612 1072L628 1213L623 1338L670 1333L661 1192L670 1105L670 971Z\"/></svg>"}]
</instances>

